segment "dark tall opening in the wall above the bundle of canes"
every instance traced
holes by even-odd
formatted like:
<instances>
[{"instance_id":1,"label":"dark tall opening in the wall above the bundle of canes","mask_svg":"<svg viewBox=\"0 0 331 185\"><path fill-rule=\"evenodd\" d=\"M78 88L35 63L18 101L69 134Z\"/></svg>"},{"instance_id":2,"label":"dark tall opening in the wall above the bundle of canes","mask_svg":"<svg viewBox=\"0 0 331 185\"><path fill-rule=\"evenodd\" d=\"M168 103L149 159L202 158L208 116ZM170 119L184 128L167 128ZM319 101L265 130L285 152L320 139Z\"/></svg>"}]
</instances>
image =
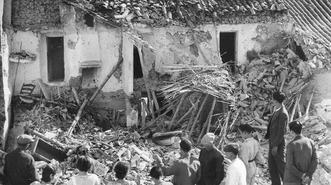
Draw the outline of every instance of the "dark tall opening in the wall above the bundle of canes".
<instances>
[{"instance_id":1,"label":"dark tall opening in the wall above the bundle of canes","mask_svg":"<svg viewBox=\"0 0 331 185\"><path fill-rule=\"evenodd\" d=\"M230 65L231 72L236 70L236 32L219 34L219 50L223 63Z\"/></svg>"}]
</instances>

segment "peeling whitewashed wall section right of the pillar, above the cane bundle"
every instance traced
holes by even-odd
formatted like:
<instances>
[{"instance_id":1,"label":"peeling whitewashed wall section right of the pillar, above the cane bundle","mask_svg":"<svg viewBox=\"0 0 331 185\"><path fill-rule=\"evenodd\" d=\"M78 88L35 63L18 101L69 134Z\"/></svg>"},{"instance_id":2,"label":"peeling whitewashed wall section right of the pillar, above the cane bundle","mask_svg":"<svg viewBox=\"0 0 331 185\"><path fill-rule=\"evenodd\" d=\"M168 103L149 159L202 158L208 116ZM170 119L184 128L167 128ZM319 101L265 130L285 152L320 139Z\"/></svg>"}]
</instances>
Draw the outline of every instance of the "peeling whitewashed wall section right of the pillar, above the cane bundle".
<instances>
[{"instance_id":1,"label":"peeling whitewashed wall section right of the pillar, above the cane bundle","mask_svg":"<svg viewBox=\"0 0 331 185\"><path fill-rule=\"evenodd\" d=\"M261 30L262 28L265 30ZM149 70L152 68L154 63L155 71L165 74L162 70L164 65L172 65L183 63L184 64L196 64L196 65L207 65L203 55L198 57L193 56L189 51L189 46L194 44L194 40L185 36L185 33L189 31L189 28L179 26L168 26L165 28L150 28L144 24L136 24L138 32L141 38L149 42L155 49L156 55L153 56L144 52L145 56L145 67ZM194 31L208 32L211 36L210 40L199 42L201 49L210 61L211 65L218 65L221 63L219 53L219 33L220 32L237 32L236 38L236 59L238 65L246 62L246 53L250 50L261 52L265 50L270 40L270 45L277 45L275 37L279 37L283 30L290 29L286 23L266 23L266 24L234 24L234 25L201 25L200 27L194 28ZM196 35L198 36L198 35ZM274 40L271 40L274 39ZM262 42L263 43L262 43ZM277 41L279 42L279 40ZM170 49L174 49L181 58L172 52ZM149 61L149 62L148 62ZM178 73L174 73L177 76Z\"/></svg>"}]
</instances>

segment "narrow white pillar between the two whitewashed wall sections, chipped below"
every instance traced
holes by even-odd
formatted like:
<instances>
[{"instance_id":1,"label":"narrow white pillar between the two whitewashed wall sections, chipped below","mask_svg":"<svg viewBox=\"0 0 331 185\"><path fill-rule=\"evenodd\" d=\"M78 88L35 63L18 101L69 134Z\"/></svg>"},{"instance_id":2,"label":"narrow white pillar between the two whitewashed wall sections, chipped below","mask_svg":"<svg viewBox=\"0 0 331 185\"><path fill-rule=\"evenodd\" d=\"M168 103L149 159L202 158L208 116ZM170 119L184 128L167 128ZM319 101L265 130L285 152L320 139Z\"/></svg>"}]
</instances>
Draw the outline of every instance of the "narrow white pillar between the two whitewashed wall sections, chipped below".
<instances>
[{"instance_id":1,"label":"narrow white pillar between the two whitewashed wall sections, chipped below","mask_svg":"<svg viewBox=\"0 0 331 185\"><path fill-rule=\"evenodd\" d=\"M122 44L122 75L123 75L123 91L127 97L133 93L133 42L123 34ZM125 99L126 104L126 127L138 126L138 111L131 107L128 98Z\"/></svg>"}]
</instances>

